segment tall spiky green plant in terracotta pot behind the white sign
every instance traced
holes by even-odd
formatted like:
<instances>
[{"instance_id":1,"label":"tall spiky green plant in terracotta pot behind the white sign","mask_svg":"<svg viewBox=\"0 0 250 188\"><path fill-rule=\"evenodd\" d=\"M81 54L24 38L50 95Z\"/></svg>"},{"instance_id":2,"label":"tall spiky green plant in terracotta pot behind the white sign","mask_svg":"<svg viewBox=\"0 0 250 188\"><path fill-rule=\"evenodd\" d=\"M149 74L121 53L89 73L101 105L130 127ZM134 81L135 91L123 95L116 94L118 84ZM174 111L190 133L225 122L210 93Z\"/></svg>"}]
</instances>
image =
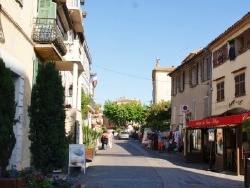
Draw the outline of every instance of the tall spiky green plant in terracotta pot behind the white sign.
<instances>
[{"instance_id":1,"label":"tall spiky green plant in terracotta pot behind the white sign","mask_svg":"<svg viewBox=\"0 0 250 188\"><path fill-rule=\"evenodd\" d=\"M82 131L83 144L86 146L86 159L92 161L95 155L96 142L101 136L101 132L95 131L88 126L83 126Z\"/></svg>"}]
</instances>

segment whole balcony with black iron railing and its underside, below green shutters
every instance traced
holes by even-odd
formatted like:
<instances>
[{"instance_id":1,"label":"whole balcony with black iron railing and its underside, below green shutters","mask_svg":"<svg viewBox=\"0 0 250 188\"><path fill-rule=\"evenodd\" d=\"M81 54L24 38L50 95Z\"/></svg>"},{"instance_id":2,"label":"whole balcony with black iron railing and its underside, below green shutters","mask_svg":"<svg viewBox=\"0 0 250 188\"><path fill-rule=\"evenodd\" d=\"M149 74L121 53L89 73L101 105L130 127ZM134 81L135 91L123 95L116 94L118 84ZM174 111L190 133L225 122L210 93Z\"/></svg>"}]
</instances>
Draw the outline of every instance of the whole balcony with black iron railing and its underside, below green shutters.
<instances>
[{"instance_id":1,"label":"whole balcony with black iron railing and its underside, below green shutters","mask_svg":"<svg viewBox=\"0 0 250 188\"><path fill-rule=\"evenodd\" d=\"M44 60L62 60L67 53L63 36L57 27L56 20L51 18L36 18L34 21L32 39L36 43L34 49Z\"/></svg>"}]
</instances>

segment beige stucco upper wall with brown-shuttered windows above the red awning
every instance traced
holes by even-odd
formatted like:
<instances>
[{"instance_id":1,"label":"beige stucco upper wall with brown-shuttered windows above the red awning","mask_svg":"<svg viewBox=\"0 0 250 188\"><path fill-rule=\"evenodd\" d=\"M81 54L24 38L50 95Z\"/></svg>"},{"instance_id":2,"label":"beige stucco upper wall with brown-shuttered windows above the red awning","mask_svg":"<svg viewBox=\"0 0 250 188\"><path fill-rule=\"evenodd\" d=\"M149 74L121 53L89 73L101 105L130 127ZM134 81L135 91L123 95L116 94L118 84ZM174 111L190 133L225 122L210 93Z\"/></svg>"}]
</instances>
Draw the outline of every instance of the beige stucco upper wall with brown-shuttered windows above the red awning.
<instances>
[{"instance_id":1,"label":"beige stucco upper wall with brown-shuttered windows above the red awning","mask_svg":"<svg viewBox=\"0 0 250 188\"><path fill-rule=\"evenodd\" d=\"M216 51L219 49L223 44L227 43L227 41L237 37L240 35L243 31L250 28L250 23L244 25L241 29L237 30L236 32L232 33L230 36L225 38L221 41L220 45L216 46L212 51ZM229 49L229 48L228 48ZM236 107L242 107L245 109L250 109L250 50L248 49L244 53L238 55L234 61L227 60L222 65L213 68L212 72L212 80L216 80L220 77L225 77L225 100L221 102L217 102L217 88L216 84L218 82L213 81L212 83L212 115L218 115L221 114L229 109L236 108ZM232 73L235 70L239 70L242 67L246 67L246 69L237 72ZM245 89L246 89L246 95L235 98L235 81L234 77L235 75L245 72ZM230 105L229 105L230 104Z\"/></svg>"}]
</instances>

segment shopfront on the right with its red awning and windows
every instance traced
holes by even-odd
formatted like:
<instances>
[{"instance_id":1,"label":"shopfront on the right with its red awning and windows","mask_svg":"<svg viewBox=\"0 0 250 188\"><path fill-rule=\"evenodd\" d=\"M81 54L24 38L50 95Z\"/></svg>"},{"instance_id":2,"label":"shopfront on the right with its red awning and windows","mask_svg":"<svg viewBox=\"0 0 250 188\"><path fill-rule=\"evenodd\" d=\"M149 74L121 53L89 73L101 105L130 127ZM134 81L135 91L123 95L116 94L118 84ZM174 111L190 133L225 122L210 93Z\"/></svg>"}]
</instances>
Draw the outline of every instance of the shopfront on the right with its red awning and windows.
<instances>
[{"instance_id":1,"label":"shopfront on the right with its red awning and windows","mask_svg":"<svg viewBox=\"0 0 250 188\"><path fill-rule=\"evenodd\" d=\"M250 113L189 121L187 162L213 163L220 171L243 174L243 145L249 141L244 139L241 123L248 118Z\"/></svg>"}]
</instances>

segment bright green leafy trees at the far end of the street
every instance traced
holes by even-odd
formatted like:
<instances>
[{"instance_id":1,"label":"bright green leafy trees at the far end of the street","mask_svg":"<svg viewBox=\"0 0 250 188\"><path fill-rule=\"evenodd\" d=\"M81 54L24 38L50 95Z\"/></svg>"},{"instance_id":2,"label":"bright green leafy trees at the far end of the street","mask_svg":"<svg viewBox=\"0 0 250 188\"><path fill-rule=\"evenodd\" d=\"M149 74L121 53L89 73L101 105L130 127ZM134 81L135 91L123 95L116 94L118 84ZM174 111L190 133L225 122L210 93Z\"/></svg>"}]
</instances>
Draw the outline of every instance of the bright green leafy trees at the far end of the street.
<instances>
[{"instance_id":1,"label":"bright green leafy trees at the far end of the street","mask_svg":"<svg viewBox=\"0 0 250 188\"><path fill-rule=\"evenodd\" d=\"M142 124L146 117L145 106L137 101L122 104L107 101L103 114L117 126L125 126L127 122Z\"/></svg>"}]
</instances>

